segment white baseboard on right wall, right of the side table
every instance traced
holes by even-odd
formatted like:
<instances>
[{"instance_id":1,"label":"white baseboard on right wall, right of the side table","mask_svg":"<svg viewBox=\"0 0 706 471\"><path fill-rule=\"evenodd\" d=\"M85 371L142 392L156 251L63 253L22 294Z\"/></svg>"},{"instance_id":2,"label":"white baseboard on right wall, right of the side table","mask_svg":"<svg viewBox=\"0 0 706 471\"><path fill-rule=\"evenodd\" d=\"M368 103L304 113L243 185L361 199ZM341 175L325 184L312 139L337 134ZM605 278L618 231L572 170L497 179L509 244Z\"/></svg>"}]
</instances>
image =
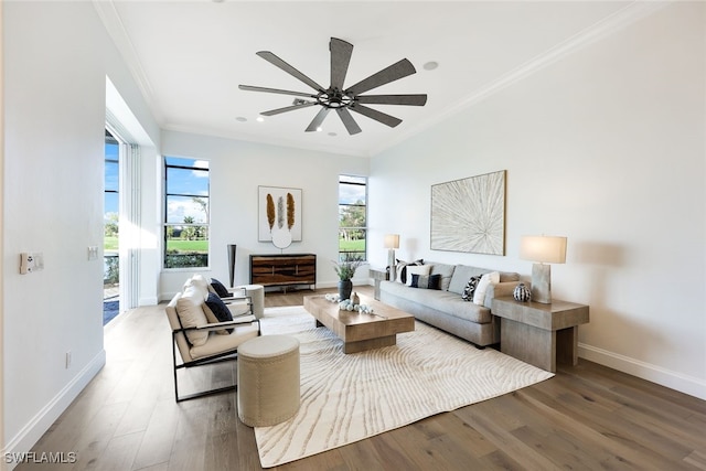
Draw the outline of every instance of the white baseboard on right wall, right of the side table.
<instances>
[{"instance_id":1,"label":"white baseboard on right wall, right of the side table","mask_svg":"<svg viewBox=\"0 0 706 471\"><path fill-rule=\"evenodd\" d=\"M640 360L631 358L596 346L586 345L584 343L578 344L578 355L581 358L589 360L603 366L618 370L619 372L628 373L632 376L668 387L670 389L675 389L680 393L688 394L689 396L706 400L706 381L702 378L673 372L662 366L645 363Z\"/></svg>"}]
</instances>

